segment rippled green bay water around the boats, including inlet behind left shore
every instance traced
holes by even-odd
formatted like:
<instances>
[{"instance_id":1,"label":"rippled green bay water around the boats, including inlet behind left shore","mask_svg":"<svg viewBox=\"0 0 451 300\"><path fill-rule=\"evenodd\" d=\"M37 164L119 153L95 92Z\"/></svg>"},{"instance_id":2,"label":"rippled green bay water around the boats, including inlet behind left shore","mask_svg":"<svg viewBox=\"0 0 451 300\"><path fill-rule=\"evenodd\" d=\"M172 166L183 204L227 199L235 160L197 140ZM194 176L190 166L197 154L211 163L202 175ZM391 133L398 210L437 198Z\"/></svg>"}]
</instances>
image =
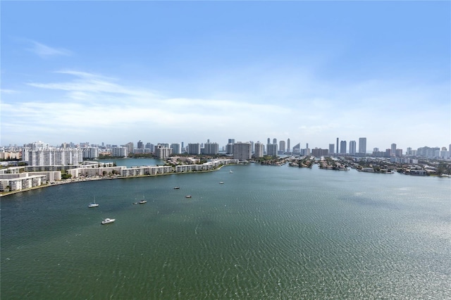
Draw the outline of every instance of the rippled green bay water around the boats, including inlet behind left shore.
<instances>
[{"instance_id":1,"label":"rippled green bay water around the boats, including inlet behind left shore","mask_svg":"<svg viewBox=\"0 0 451 300\"><path fill-rule=\"evenodd\" d=\"M449 179L252 163L13 194L1 297L451 299L450 195Z\"/></svg>"}]
</instances>

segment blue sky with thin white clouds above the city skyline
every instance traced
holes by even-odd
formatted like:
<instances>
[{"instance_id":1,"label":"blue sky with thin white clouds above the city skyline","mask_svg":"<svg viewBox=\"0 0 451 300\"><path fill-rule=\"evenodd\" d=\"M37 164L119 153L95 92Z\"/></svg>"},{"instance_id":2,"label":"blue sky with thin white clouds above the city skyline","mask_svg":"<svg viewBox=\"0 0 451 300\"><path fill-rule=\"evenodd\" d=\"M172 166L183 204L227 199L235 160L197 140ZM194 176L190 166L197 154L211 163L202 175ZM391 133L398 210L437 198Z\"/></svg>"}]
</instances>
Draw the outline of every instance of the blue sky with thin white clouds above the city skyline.
<instances>
[{"instance_id":1,"label":"blue sky with thin white clouds above the city skyline","mask_svg":"<svg viewBox=\"0 0 451 300\"><path fill-rule=\"evenodd\" d=\"M451 144L450 1L1 1L0 145Z\"/></svg>"}]
</instances>

